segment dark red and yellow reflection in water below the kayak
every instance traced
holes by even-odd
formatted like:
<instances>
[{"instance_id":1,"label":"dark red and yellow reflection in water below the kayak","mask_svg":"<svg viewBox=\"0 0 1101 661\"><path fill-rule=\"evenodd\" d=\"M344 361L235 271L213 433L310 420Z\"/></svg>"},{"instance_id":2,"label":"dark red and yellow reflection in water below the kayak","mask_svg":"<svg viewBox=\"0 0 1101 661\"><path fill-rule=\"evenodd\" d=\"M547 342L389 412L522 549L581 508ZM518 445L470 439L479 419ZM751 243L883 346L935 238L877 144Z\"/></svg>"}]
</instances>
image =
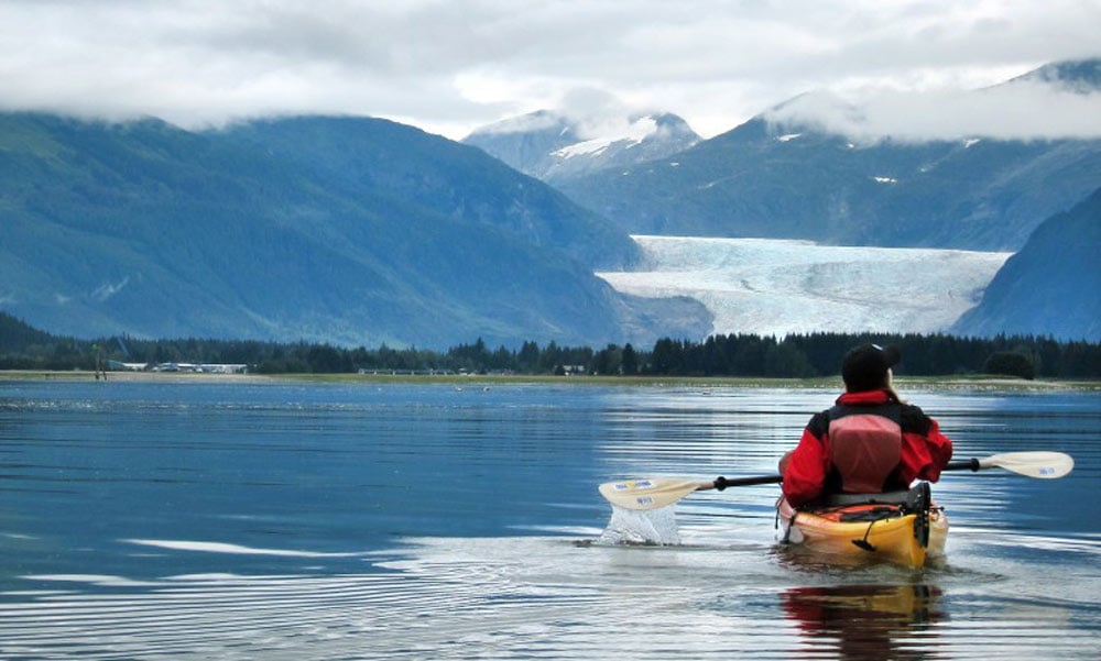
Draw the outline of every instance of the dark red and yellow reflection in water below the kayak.
<instances>
[{"instance_id":1,"label":"dark red and yellow reflection in water below the kayak","mask_svg":"<svg viewBox=\"0 0 1101 661\"><path fill-rule=\"evenodd\" d=\"M799 656L826 649L839 659L920 659L940 619L940 591L925 584L795 587L784 613L805 637ZM922 645L912 641L922 639ZM814 651L813 651L814 650Z\"/></svg>"}]
</instances>

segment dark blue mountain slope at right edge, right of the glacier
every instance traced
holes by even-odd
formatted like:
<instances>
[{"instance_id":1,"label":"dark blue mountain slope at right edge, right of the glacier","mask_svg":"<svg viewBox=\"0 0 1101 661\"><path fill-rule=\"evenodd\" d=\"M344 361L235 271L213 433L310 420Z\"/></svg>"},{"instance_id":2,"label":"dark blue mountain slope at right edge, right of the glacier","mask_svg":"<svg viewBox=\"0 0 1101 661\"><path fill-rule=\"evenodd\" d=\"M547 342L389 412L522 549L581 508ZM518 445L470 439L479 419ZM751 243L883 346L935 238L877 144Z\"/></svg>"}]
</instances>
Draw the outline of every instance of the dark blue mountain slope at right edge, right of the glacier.
<instances>
[{"instance_id":1,"label":"dark blue mountain slope at right edge, right of the glacier","mask_svg":"<svg viewBox=\"0 0 1101 661\"><path fill-rule=\"evenodd\" d=\"M1101 342L1101 188L1040 223L951 330Z\"/></svg>"}]
</instances>

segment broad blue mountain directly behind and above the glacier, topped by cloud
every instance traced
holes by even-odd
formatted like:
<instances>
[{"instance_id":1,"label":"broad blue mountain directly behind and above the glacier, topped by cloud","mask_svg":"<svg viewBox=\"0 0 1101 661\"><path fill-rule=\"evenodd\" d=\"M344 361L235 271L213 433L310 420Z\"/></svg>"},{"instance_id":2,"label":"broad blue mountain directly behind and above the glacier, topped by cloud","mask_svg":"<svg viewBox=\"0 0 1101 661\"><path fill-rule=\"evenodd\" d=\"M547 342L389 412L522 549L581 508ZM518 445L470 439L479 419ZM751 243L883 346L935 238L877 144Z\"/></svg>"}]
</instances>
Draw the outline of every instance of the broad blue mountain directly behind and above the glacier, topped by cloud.
<instances>
[{"instance_id":1,"label":"broad blue mountain directly behind and above the glacier, topped by cloud","mask_svg":"<svg viewBox=\"0 0 1101 661\"><path fill-rule=\"evenodd\" d=\"M1099 63L1053 65L1027 85L1049 86L1045 91L1062 95L1068 106L1095 111ZM1011 109L1021 115L998 107L1003 98L1021 99L1016 92L973 95L988 118ZM1101 181L1097 137L861 141L811 121L815 100L793 99L666 158L558 178L555 186L634 234L1012 251ZM866 114L847 110L846 117ZM1090 121L1097 123L1095 112Z\"/></svg>"}]
</instances>

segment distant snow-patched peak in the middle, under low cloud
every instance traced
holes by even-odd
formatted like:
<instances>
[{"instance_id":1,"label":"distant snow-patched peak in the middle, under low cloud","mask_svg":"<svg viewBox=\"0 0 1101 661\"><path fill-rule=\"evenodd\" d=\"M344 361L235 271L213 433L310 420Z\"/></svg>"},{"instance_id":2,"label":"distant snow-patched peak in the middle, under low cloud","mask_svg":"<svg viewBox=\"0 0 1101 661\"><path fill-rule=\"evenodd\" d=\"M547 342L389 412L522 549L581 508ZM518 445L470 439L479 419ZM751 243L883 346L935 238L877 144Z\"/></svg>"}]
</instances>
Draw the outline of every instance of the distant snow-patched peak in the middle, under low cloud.
<instances>
[{"instance_id":1,"label":"distant snow-patched peak in the middle, under low cloud","mask_svg":"<svg viewBox=\"0 0 1101 661\"><path fill-rule=\"evenodd\" d=\"M664 158L699 140L675 114L595 119L541 110L478 129L462 142L524 174L553 183Z\"/></svg>"}]
</instances>

